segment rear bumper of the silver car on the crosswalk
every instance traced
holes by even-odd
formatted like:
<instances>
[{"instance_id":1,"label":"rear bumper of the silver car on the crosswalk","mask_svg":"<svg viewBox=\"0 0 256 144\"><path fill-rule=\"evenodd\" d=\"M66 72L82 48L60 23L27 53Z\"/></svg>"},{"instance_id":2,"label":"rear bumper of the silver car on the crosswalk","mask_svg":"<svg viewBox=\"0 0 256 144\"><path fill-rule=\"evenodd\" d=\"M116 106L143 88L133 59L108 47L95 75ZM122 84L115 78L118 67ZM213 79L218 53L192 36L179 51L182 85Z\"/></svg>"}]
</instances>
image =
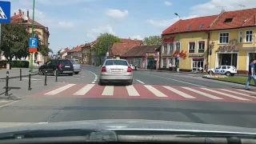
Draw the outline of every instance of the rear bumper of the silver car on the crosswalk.
<instances>
[{"instance_id":1,"label":"rear bumper of the silver car on the crosswalk","mask_svg":"<svg viewBox=\"0 0 256 144\"><path fill-rule=\"evenodd\" d=\"M100 80L102 81L111 81L111 82L132 82L133 80L133 75L106 75L106 74L101 74L100 75Z\"/></svg>"}]
</instances>

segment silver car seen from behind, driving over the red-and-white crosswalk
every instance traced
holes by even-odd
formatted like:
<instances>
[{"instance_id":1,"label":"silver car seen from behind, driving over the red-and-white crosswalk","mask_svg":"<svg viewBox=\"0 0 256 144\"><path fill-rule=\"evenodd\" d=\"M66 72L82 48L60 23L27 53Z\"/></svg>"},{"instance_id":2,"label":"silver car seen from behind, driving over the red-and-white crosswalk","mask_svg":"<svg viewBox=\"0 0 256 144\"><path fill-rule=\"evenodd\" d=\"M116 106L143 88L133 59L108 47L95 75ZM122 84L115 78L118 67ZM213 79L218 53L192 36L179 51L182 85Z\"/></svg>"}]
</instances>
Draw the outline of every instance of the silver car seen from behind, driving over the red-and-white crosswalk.
<instances>
[{"instance_id":1,"label":"silver car seen from behind, driving over the red-and-white crosswalk","mask_svg":"<svg viewBox=\"0 0 256 144\"><path fill-rule=\"evenodd\" d=\"M133 83L133 72L126 59L107 59L102 65L99 85L105 82Z\"/></svg>"}]
</instances>

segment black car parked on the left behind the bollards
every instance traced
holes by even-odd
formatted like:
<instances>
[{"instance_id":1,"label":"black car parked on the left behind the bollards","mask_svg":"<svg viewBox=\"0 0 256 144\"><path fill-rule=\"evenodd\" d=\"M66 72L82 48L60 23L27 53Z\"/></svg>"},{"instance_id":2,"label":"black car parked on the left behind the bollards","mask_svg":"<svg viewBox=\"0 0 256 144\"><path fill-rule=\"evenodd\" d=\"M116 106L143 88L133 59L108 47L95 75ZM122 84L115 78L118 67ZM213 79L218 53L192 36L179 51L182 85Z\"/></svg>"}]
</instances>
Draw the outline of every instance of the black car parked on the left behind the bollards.
<instances>
[{"instance_id":1,"label":"black car parked on the left behind the bollards","mask_svg":"<svg viewBox=\"0 0 256 144\"><path fill-rule=\"evenodd\" d=\"M74 67L73 64L68 59L53 59L46 62L44 65L39 67L38 73L39 75L54 74L56 75L56 70L58 70L58 74L69 74L73 75Z\"/></svg>"}]
</instances>

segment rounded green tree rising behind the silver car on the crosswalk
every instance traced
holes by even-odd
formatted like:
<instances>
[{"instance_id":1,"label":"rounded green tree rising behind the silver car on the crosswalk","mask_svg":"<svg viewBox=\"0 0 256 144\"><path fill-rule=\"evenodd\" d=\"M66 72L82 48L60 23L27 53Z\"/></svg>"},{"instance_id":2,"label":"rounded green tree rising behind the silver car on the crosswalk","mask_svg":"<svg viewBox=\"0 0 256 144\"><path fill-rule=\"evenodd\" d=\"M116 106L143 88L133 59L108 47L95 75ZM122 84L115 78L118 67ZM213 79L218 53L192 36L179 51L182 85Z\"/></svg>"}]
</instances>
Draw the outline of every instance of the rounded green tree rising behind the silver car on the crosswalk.
<instances>
[{"instance_id":1,"label":"rounded green tree rising behind the silver car on the crosswalk","mask_svg":"<svg viewBox=\"0 0 256 144\"><path fill-rule=\"evenodd\" d=\"M98 42L94 45L94 55L98 57L100 64L102 56L106 56L106 52L113 46L114 42L121 42L120 38L113 34L101 34L98 37Z\"/></svg>"}]
</instances>

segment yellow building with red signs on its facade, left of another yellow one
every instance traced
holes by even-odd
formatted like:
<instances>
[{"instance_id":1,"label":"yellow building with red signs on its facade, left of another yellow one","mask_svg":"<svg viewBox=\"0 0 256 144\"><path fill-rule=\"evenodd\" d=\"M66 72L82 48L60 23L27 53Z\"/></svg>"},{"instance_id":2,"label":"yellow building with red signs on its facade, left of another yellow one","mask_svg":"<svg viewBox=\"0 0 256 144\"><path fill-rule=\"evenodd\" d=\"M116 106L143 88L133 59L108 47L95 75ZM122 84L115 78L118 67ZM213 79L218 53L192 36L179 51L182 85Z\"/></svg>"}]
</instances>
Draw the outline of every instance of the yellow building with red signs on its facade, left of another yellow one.
<instances>
[{"instance_id":1,"label":"yellow building with red signs on its facade, left of another yellow one","mask_svg":"<svg viewBox=\"0 0 256 144\"><path fill-rule=\"evenodd\" d=\"M210 38L208 29L216 18L218 15L179 20L164 30L160 68L169 68L170 63L180 71L204 68Z\"/></svg>"}]
</instances>

